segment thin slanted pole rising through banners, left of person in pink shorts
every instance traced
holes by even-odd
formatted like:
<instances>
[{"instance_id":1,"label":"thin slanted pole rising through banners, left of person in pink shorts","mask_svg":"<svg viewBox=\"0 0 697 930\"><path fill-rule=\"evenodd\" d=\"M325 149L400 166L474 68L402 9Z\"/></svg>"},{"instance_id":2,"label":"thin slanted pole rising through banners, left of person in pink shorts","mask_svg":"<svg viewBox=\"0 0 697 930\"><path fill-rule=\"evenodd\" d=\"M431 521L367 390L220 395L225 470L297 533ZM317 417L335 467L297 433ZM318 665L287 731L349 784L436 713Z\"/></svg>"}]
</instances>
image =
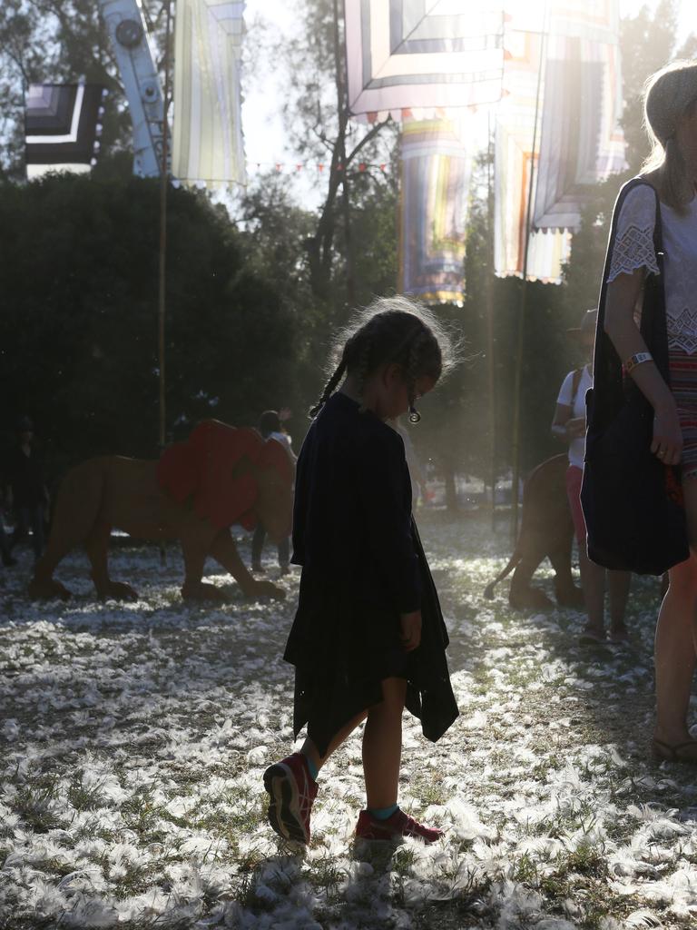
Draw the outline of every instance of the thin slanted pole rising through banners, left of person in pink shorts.
<instances>
[{"instance_id":1,"label":"thin slanted pole rising through banners, left of person in pink shorts","mask_svg":"<svg viewBox=\"0 0 697 930\"><path fill-rule=\"evenodd\" d=\"M518 314L518 344L516 349L516 373L513 384L513 482L511 485L511 538L515 544L518 539L518 506L520 482L520 388L522 385L523 348L525 344L525 314L528 297L528 258L530 254L530 236L533 225L533 190L535 174L535 150L537 148L537 121L540 112L542 90L542 73L545 67L545 46L547 34L547 2L543 11L543 27L540 37L540 65L537 71L537 93L535 97L535 116L533 126L533 151L530 156L530 179L528 183L528 203L525 209L525 247L523 250L522 286L520 289L520 308Z\"/></svg>"}]
</instances>

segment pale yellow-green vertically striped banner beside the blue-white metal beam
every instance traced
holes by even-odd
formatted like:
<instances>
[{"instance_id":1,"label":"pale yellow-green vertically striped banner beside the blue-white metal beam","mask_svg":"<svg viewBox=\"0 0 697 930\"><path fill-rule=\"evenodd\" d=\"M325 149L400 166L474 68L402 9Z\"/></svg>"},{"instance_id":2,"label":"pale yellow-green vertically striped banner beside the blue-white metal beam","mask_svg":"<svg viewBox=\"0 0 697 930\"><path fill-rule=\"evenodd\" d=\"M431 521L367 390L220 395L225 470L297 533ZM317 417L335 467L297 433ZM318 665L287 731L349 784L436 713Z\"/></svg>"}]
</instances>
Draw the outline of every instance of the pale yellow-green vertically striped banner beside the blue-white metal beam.
<instances>
[{"instance_id":1,"label":"pale yellow-green vertically striped banner beside the blue-white metal beam","mask_svg":"<svg viewBox=\"0 0 697 930\"><path fill-rule=\"evenodd\" d=\"M244 2L178 0L172 174L244 182L240 66Z\"/></svg>"}]
</instances>

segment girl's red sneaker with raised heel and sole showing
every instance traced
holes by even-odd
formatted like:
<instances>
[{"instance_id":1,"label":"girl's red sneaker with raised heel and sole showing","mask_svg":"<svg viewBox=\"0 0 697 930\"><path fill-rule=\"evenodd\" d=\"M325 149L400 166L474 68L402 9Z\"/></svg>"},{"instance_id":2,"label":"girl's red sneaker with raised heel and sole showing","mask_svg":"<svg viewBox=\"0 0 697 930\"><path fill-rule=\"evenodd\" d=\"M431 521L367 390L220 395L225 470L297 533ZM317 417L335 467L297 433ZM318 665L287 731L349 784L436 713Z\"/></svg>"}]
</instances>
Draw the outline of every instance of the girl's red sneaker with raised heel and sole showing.
<instances>
[{"instance_id":1,"label":"girl's red sneaker with raised heel and sole showing","mask_svg":"<svg viewBox=\"0 0 697 930\"><path fill-rule=\"evenodd\" d=\"M284 840L309 843L309 815L317 797L317 782L309 774L302 752L282 759L264 772L269 791L269 823Z\"/></svg>"}]
</instances>

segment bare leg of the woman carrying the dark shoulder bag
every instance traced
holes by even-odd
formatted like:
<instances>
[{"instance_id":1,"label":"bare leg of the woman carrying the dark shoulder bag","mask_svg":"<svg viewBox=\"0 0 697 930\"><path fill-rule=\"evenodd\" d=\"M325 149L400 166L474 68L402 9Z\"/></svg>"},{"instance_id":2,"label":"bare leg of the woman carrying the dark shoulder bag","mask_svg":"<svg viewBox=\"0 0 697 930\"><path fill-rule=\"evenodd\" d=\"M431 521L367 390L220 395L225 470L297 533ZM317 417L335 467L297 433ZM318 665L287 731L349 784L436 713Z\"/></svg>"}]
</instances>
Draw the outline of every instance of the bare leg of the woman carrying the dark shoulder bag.
<instances>
[{"instance_id":1,"label":"bare leg of the woman carrying the dark shoulder bag","mask_svg":"<svg viewBox=\"0 0 697 930\"><path fill-rule=\"evenodd\" d=\"M683 485L690 558L670 570L670 586L656 628L656 727L654 737L668 745L690 739L687 716L695 669L697 623L697 482Z\"/></svg>"}]
</instances>

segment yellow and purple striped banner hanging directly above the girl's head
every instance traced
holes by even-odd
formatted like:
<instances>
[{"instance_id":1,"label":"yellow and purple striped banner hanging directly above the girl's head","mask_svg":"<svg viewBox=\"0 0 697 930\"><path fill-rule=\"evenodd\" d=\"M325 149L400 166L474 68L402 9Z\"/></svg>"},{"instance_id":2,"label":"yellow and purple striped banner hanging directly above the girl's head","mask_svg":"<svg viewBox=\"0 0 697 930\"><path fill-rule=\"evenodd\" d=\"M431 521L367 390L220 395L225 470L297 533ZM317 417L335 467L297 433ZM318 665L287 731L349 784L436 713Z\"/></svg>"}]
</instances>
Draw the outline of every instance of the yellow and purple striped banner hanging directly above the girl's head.
<instances>
[{"instance_id":1,"label":"yellow and purple striped banner hanging directly above the girl's head","mask_svg":"<svg viewBox=\"0 0 697 930\"><path fill-rule=\"evenodd\" d=\"M472 152L461 124L405 120L401 130L400 291L461 304Z\"/></svg>"}]
</instances>

